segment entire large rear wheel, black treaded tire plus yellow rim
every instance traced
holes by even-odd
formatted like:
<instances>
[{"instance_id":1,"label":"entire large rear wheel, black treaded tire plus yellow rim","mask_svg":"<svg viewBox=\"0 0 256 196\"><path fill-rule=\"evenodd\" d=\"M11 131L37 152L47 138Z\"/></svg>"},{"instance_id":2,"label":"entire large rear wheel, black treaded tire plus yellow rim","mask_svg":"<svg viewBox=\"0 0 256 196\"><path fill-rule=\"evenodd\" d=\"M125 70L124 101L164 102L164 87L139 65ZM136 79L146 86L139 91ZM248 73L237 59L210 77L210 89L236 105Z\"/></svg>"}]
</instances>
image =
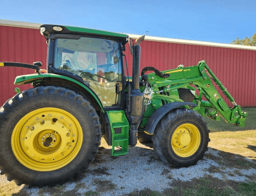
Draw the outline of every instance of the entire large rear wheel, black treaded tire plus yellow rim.
<instances>
[{"instance_id":1,"label":"entire large rear wheel, black treaded tire plus yellow rim","mask_svg":"<svg viewBox=\"0 0 256 196\"><path fill-rule=\"evenodd\" d=\"M0 108L0 169L17 185L53 186L82 174L98 152L99 117L74 91L37 87Z\"/></svg>"}]
</instances>

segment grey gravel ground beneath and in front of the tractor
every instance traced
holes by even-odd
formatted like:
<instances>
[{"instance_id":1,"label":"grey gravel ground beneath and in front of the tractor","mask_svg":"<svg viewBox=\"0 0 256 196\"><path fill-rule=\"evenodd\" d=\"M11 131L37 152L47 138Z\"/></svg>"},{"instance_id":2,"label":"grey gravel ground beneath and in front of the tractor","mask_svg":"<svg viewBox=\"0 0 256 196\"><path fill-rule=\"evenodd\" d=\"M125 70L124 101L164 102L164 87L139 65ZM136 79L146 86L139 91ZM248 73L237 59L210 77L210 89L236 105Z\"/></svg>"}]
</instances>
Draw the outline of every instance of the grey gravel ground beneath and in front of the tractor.
<instances>
[{"instance_id":1,"label":"grey gravel ground beneath and in front of the tractor","mask_svg":"<svg viewBox=\"0 0 256 196\"><path fill-rule=\"evenodd\" d=\"M139 143L139 142L138 142ZM218 151L209 148L203 160L197 165L187 168L175 169L164 164L157 156L150 145L138 144L129 148L129 153L123 156L111 156L111 147L107 146L102 139L102 145L95 161L89 168L74 182L67 182L61 186L62 191L70 192L76 189L76 195L84 195L86 192L98 192L101 196L119 196L129 194L133 191L140 191L146 188L152 191L162 192L172 186L176 180L191 181L193 179L210 175L220 180L233 180L247 182L248 177L256 175L256 169L239 169L223 167L207 157L218 156ZM209 155L209 156L207 156ZM254 161L253 161L254 162ZM254 162L255 163L255 162ZM211 167L218 168L218 172L209 170ZM232 175L227 175L232 173ZM6 183L6 180L1 180ZM79 185L81 185L79 187ZM28 189L22 187L29 196L40 195L39 188ZM78 190L77 190L78 189ZM51 196L52 193L44 191L43 195Z\"/></svg>"}]
</instances>

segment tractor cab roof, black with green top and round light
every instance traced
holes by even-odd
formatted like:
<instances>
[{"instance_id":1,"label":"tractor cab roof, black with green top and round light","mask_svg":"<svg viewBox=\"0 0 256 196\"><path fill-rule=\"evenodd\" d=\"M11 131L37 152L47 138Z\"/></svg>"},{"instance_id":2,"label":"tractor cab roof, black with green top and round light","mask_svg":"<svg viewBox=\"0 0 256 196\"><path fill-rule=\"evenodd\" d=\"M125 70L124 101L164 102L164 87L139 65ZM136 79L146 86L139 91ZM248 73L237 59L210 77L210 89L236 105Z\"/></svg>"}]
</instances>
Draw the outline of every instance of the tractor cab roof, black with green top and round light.
<instances>
[{"instance_id":1,"label":"tractor cab roof, black with green top and round light","mask_svg":"<svg viewBox=\"0 0 256 196\"><path fill-rule=\"evenodd\" d=\"M61 25L41 25L40 29L45 27L45 31L43 35L46 40L49 39L51 34L75 34L75 35L83 35L83 36L93 36L93 37L102 37L102 38L110 38L110 39L117 39L123 43L128 41L128 35L122 33L114 33L109 31L102 31L96 29L87 29L81 27L70 27L70 26L61 26ZM53 27L61 27L61 31L56 31Z\"/></svg>"}]
</instances>

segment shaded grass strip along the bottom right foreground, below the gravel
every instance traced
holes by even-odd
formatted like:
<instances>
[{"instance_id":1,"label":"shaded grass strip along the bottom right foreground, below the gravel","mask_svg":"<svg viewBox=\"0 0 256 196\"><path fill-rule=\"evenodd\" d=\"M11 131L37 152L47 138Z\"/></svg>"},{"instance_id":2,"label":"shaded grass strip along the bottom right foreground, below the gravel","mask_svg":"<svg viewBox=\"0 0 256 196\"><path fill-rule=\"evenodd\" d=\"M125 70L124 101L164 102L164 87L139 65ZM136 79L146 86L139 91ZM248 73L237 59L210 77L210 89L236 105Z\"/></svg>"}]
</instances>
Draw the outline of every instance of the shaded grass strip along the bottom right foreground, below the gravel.
<instances>
[{"instance_id":1,"label":"shaded grass strip along the bottom right foreground, below the gravel","mask_svg":"<svg viewBox=\"0 0 256 196\"><path fill-rule=\"evenodd\" d=\"M144 189L142 191L134 191L125 196L255 196L256 182L234 182L222 181L211 176L200 179L194 179L189 182L177 180L174 186L166 189L162 193Z\"/></svg>"}]
</instances>

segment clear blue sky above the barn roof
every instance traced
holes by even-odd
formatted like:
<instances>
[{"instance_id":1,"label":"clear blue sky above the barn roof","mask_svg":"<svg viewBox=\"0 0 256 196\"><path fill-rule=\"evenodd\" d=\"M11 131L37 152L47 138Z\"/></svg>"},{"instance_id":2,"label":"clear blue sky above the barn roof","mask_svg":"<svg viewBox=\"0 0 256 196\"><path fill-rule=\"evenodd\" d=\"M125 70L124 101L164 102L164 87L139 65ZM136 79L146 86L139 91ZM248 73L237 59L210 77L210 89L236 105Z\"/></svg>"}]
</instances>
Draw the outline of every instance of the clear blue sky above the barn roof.
<instances>
[{"instance_id":1,"label":"clear blue sky above the barn roof","mask_svg":"<svg viewBox=\"0 0 256 196\"><path fill-rule=\"evenodd\" d=\"M1 0L0 19L230 43L256 32L256 1Z\"/></svg>"}]
</instances>

